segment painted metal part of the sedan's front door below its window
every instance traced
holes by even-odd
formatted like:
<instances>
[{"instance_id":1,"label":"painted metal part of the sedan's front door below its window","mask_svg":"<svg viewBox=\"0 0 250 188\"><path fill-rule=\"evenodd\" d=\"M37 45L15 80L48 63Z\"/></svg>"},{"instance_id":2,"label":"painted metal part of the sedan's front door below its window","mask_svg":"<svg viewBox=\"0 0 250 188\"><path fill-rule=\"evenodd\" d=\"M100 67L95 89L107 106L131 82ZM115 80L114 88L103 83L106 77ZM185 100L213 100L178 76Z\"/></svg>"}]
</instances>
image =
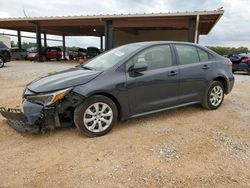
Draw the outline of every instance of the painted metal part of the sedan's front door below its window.
<instances>
[{"instance_id":1,"label":"painted metal part of the sedan's front door below its window","mask_svg":"<svg viewBox=\"0 0 250 188\"><path fill-rule=\"evenodd\" d=\"M178 72L178 66L145 71L140 76L127 73L131 115L166 108L178 102L179 75L169 76L171 71Z\"/></svg>"}]
</instances>

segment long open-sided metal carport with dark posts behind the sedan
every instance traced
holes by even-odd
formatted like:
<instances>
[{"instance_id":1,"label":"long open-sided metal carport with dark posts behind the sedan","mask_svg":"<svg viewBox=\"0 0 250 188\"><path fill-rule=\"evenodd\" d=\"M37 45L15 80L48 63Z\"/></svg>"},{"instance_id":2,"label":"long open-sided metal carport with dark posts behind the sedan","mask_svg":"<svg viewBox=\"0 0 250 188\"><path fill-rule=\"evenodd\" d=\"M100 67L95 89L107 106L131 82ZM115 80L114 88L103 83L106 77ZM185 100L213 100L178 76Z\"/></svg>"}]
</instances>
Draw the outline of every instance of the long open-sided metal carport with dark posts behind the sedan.
<instances>
[{"instance_id":1,"label":"long open-sided metal carport with dark posts behind the sedan","mask_svg":"<svg viewBox=\"0 0 250 188\"><path fill-rule=\"evenodd\" d=\"M65 36L97 36L105 50L113 47L148 40L179 40L198 43L199 35L207 35L223 15L223 10L86 15L63 17L1 18L0 28L17 30L18 46L21 48L20 31L36 33L39 61L42 61L41 34L60 35L65 54Z\"/></svg>"}]
</instances>

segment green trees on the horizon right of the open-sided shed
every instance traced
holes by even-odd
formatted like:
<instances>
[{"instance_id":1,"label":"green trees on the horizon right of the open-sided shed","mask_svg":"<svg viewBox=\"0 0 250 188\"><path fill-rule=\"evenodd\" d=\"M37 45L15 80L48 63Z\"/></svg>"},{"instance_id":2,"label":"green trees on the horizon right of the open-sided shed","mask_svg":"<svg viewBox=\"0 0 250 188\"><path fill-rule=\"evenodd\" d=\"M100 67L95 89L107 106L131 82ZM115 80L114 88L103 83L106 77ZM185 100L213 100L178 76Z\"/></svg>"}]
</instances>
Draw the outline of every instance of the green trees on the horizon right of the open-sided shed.
<instances>
[{"instance_id":1,"label":"green trees on the horizon right of the open-sided shed","mask_svg":"<svg viewBox=\"0 0 250 188\"><path fill-rule=\"evenodd\" d=\"M222 46L207 46L207 48L215 51L220 55L229 55L229 54L240 54L240 53L248 53L250 52L247 47L222 47Z\"/></svg>"}]
</instances>

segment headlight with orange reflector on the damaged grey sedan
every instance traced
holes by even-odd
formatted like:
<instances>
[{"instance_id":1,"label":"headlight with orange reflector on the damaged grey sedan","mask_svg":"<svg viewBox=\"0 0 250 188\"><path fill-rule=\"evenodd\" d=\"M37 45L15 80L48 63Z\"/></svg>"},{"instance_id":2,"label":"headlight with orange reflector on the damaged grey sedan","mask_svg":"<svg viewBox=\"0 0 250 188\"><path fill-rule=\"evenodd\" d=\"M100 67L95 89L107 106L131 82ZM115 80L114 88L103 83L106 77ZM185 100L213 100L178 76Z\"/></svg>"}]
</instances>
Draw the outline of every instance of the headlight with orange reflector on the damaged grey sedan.
<instances>
[{"instance_id":1,"label":"headlight with orange reflector on the damaged grey sedan","mask_svg":"<svg viewBox=\"0 0 250 188\"><path fill-rule=\"evenodd\" d=\"M56 91L53 93L47 93L47 94L40 94L40 95L28 95L26 96L26 99L33 103L42 104L44 106L49 106L51 104L56 103L60 99L62 99L71 88L63 89L60 91Z\"/></svg>"}]
</instances>

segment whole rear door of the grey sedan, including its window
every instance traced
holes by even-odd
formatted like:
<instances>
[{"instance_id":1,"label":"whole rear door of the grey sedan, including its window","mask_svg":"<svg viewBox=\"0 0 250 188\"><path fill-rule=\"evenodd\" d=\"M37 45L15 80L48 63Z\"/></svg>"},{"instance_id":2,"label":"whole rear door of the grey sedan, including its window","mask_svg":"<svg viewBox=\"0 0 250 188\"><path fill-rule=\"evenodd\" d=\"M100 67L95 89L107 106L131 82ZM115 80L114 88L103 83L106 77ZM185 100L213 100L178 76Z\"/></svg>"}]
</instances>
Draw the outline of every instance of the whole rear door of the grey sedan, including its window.
<instances>
[{"instance_id":1,"label":"whole rear door of the grey sedan, including its window","mask_svg":"<svg viewBox=\"0 0 250 188\"><path fill-rule=\"evenodd\" d=\"M207 88L207 77L213 68L212 62L209 61L209 54L193 45L175 44L174 46L180 73L179 102L185 104L200 101Z\"/></svg>"}]
</instances>

